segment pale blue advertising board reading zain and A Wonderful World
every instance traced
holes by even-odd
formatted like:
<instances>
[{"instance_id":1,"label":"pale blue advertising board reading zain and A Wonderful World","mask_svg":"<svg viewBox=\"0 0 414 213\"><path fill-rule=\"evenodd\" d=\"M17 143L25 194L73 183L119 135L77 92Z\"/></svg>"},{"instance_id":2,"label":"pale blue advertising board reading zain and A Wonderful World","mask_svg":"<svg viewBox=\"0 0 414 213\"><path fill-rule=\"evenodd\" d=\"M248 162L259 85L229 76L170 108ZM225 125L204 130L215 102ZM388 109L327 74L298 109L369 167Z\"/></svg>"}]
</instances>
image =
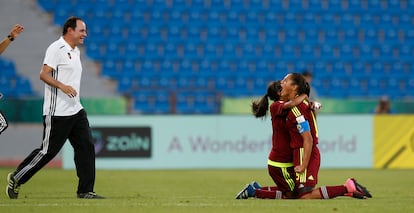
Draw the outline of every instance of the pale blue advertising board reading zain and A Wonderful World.
<instances>
[{"instance_id":1,"label":"pale blue advertising board reading zain and A Wonderful World","mask_svg":"<svg viewBox=\"0 0 414 213\"><path fill-rule=\"evenodd\" d=\"M372 115L320 115L322 168L372 168ZM269 118L91 116L98 169L265 168ZM66 143L63 167L74 169Z\"/></svg>"}]
</instances>

